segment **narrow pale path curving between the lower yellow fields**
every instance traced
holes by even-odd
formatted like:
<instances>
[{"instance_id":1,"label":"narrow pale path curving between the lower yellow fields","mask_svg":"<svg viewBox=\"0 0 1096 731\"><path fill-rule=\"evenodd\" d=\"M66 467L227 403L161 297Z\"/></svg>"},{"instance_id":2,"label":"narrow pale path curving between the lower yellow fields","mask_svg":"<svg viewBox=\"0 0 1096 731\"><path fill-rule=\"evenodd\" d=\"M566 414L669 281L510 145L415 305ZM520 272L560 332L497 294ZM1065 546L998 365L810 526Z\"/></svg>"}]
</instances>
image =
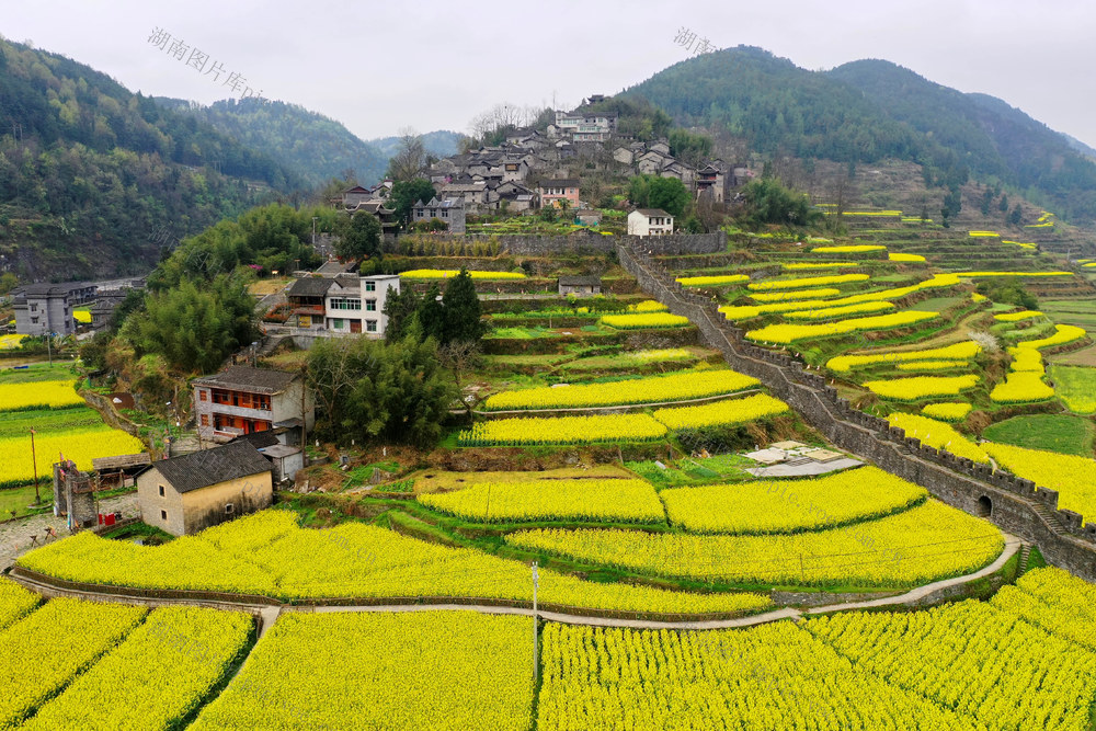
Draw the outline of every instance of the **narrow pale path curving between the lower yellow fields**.
<instances>
[{"instance_id":1,"label":"narrow pale path curving between the lower yellow fields","mask_svg":"<svg viewBox=\"0 0 1096 731\"><path fill-rule=\"evenodd\" d=\"M905 594L887 596L878 599L867 599L864 602L847 602L844 604L832 604L826 606L811 607L802 610L795 607L783 607L763 614L739 617L735 619L710 619L693 621L658 621L651 619L621 619L616 617L587 617L583 615L566 614L560 612L538 610L537 616L548 621L558 621L567 625L587 625L591 627L628 627L633 629L728 629L734 627L753 627L781 619L801 619L804 615L826 614L831 612L846 612L866 608L878 608L887 606L914 607L921 604L928 604L933 601L945 598L950 595L952 589L962 586L984 576L996 573L1008 562L1008 560L1019 551L1021 541L1015 536L1005 534L1005 548L993 563L964 576L955 576L936 581L924 586L918 586ZM12 580L18 581L27 589L44 594L46 596L70 596L73 598L89 599L95 602L114 602L119 604L142 604L150 607L170 605L206 606L220 609L243 610L255 614L262 618L262 629L260 637L274 625L274 621L284 612L436 612L436 610L470 610L480 614L510 614L532 617L533 609L527 607L500 607L480 604L387 604L387 605L346 605L346 606L316 606L316 605L260 605L247 602L212 601L212 599L189 599L189 598L148 598L136 594L107 594L101 592L80 591L73 589L60 589L46 582L31 580L26 576L12 574Z\"/></svg>"}]
</instances>

